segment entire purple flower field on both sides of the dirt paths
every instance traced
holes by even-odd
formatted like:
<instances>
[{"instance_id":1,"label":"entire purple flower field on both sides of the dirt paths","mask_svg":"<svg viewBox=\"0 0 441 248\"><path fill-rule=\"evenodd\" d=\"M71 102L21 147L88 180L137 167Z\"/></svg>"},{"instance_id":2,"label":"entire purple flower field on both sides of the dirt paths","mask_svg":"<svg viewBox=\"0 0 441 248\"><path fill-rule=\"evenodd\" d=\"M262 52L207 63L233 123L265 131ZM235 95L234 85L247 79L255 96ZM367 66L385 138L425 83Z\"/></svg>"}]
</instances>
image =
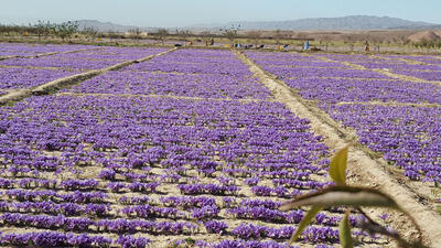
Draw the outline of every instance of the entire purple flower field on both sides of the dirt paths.
<instances>
[{"instance_id":1,"label":"entire purple flower field on both sides of the dirt paths","mask_svg":"<svg viewBox=\"0 0 441 248\"><path fill-rule=\"evenodd\" d=\"M164 51L0 44L15 56L0 61L0 96ZM410 180L441 182L440 86L331 55L246 54ZM294 246L305 209L278 209L330 184L330 152L234 52L171 51L0 107L0 247L335 247L342 209L321 212ZM353 234L357 247L390 245Z\"/></svg>"}]
</instances>

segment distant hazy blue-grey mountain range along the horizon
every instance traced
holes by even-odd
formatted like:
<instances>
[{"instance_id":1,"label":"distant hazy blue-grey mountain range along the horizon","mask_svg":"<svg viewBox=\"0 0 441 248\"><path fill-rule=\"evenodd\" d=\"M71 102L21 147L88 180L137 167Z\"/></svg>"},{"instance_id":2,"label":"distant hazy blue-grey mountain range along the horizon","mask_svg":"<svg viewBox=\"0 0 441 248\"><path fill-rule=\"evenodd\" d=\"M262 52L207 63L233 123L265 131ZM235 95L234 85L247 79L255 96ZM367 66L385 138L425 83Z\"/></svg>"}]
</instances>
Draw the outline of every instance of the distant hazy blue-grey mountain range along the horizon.
<instances>
[{"instance_id":1,"label":"distant hazy blue-grey mountain range along the horizon","mask_svg":"<svg viewBox=\"0 0 441 248\"><path fill-rule=\"evenodd\" d=\"M120 25L111 22L99 22L96 20L77 21L79 29L90 26L98 31L127 32L130 29L139 28L133 25ZM349 15L343 18L308 18L292 21L259 21L259 22L228 22L212 24L195 24L181 26L193 31L218 31L222 28L240 25L240 30L432 30L441 29L441 24L416 22L399 18ZM153 31L155 28L140 28L143 31Z\"/></svg>"}]
</instances>

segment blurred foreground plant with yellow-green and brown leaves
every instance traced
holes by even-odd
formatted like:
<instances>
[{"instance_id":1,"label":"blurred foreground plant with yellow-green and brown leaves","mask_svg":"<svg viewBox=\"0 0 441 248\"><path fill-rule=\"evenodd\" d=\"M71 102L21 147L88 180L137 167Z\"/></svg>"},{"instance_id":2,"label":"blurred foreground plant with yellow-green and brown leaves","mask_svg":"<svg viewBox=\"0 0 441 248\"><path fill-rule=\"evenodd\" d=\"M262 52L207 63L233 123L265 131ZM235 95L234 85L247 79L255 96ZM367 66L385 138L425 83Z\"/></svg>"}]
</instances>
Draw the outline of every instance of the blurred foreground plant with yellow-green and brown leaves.
<instances>
[{"instance_id":1,"label":"blurred foreground plant with yellow-green and brown leaves","mask_svg":"<svg viewBox=\"0 0 441 248\"><path fill-rule=\"evenodd\" d=\"M426 247L421 240L421 229L413 217L402 209L392 198L374 188L349 186L346 184L348 147L349 145L340 150L330 164L329 174L336 185L331 185L320 191L301 195L280 206L280 211L290 211L300 206L312 206L299 224L295 233L292 234L290 242L293 242L299 238L308 224L310 224L315 215L324 207L346 206L346 213L340 224L340 242L342 247L354 247L348 218L349 214L354 212L359 213L364 217L357 219L357 227L372 235L380 234L394 238L398 246L404 248ZM404 213L418 230L419 239L417 241L408 241L404 239L399 234L389 230L373 220L361 207L387 207Z\"/></svg>"}]
</instances>

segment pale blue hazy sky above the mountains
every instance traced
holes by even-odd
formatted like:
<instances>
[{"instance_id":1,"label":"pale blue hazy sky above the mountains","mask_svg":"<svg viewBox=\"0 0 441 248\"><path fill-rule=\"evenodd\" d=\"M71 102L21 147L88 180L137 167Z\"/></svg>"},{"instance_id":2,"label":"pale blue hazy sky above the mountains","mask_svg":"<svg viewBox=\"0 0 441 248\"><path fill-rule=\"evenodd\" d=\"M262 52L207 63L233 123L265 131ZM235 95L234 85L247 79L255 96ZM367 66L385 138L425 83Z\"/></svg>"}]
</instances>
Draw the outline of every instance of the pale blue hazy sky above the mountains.
<instances>
[{"instance_id":1,"label":"pale blue hazy sky above the mountains","mask_svg":"<svg viewBox=\"0 0 441 248\"><path fill-rule=\"evenodd\" d=\"M0 23L92 19L140 26L352 14L441 23L441 0L0 0Z\"/></svg>"}]
</instances>

